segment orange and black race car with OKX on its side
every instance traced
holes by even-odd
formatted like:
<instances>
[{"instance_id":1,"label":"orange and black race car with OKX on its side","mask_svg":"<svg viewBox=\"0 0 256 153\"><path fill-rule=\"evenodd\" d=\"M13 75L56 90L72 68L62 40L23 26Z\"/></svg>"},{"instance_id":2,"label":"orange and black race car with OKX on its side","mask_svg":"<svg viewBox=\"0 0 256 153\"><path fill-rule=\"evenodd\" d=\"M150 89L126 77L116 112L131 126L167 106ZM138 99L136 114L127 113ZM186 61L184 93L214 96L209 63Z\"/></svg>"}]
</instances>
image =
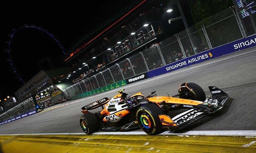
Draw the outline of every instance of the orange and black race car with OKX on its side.
<instances>
[{"instance_id":1,"label":"orange and black race car with OKX on its side","mask_svg":"<svg viewBox=\"0 0 256 153\"><path fill-rule=\"evenodd\" d=\"M156 91L144 96L141 92L127 98L123 90L113 98L102 98L82 107L80 125L89 135L98 130L128 131L141 128L148 135L156 135L165 129L188 127L204 116L220 110L228 94L209 86L212 97L206 98L204 90L195 83L183 83L177 95L157 96ZM102 111L89 113L102 107ZM178 112L178 113L173 113Z\"/></svg>"}]
</instances>

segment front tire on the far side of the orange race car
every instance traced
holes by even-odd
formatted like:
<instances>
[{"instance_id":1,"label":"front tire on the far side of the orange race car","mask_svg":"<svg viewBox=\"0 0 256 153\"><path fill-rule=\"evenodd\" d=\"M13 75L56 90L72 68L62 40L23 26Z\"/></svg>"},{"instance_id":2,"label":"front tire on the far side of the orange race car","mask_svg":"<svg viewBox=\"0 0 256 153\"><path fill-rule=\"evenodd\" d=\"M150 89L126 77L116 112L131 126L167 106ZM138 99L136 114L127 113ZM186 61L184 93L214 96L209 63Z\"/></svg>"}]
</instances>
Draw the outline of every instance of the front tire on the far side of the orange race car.
<instances>
[{"instance_id":1,"label":"front tire on the far side of the orange race car","mask_svg":"<svg viewBox=\"0 0 256 153\"><path fill-rule=\"evenodd\" d=\"M179 98L198 100L198 101L204 101L206 99L204 90L198 84L187 83L187 88L189 88L188 90L186 89L186 87L182 85L183 84L181 84L181 88L179 89L178 94L187 93L190 90L192 92L189 92L188 94L180 95Z\"/></svg>"}]
</instances>

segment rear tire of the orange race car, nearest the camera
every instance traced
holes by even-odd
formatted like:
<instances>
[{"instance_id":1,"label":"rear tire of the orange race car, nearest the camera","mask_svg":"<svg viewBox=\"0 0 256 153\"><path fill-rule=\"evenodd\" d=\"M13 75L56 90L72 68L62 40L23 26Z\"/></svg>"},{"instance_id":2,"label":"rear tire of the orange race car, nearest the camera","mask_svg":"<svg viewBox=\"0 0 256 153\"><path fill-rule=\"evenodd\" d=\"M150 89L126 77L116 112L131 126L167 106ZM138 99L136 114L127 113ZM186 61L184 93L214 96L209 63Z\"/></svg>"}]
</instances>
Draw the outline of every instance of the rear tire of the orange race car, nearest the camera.
<instances>
[{"instance_id":1,"label":"rear tire of the orange race car, nearest the camera","mask_svg":"<svg viewBox=\"0 0 256 153\"><path fill-rule=\"evenodd\" d=\"M93 113L87 113L81 116L79 119L79 123L86 135L97 132L100 127L100 123Z\"/></svg>"}]
</instances>

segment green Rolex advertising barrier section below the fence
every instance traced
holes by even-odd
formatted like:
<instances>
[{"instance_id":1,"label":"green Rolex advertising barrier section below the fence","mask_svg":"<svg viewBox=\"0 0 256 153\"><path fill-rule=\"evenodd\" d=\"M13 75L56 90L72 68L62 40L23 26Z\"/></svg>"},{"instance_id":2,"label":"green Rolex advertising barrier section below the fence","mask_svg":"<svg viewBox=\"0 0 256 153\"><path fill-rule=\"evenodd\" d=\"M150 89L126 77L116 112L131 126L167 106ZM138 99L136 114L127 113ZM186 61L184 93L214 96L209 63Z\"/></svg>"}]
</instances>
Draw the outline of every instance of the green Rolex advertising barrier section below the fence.
<instances>
[{"instance_id":1,"label":"green Rolex advertising barrier section below the fence","mask_svg":"<svg viewBox=\"0 0 256 153\"><path fill-rule=\"evenodd\" d=\"M114 84L109 84L107 86L104 86L104 87L101 87L101 88L98 88L98 89L94 89L92 91L84 92L84 93L81 93L81 94L76 95L76 96L73 96L71 99L73 100L73 99L77 99L77 98L83 98L83 97L91 96L91 95L94 95L94 94L97 94L97 93L101 93L101 92L104 92L104 91L109 91L109 90L112 90L112 89L115 89L115 88L118 88L118 87L122 87L124 85L127 85L125 80L118 81Z\"/></svg>"}]
</instances>

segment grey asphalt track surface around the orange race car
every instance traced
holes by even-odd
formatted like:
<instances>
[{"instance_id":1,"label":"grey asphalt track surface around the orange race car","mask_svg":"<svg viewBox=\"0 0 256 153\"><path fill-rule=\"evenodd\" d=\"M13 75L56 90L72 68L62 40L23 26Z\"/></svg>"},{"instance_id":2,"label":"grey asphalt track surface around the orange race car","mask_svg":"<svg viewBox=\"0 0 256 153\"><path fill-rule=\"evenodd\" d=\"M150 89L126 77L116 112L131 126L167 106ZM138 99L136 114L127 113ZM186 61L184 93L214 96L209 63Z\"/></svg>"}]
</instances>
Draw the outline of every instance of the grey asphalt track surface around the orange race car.
<instances>
[{"instance_id":1,"label":"grey asphalt track surface around the orange race car","mask_svg":"<svg viewBox=\"0 0 256 153\"><path fill-rule=\"evenodd\" d=\"M256 129L256 48L221 56L121 88L125 89L128 96L140 91L147 96L153 90L156 90L157 95L167 96L168 92L171 96L177 94L180 84L184 82L200 85L206 96L211 95L208 86L219 87L230 98L220 112L205 117L189 128L167 132ZM103 97L111 98L121 88L68 101L63 104L69 105L59 104L57 106L60 107L53 106L54 109L6 123L0 126L0 134L81 133L81 107ZM92 113L100 110L95 109Z\"/></svg>"}]
</instances>

